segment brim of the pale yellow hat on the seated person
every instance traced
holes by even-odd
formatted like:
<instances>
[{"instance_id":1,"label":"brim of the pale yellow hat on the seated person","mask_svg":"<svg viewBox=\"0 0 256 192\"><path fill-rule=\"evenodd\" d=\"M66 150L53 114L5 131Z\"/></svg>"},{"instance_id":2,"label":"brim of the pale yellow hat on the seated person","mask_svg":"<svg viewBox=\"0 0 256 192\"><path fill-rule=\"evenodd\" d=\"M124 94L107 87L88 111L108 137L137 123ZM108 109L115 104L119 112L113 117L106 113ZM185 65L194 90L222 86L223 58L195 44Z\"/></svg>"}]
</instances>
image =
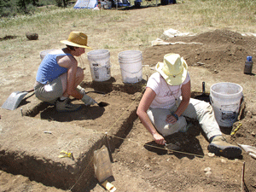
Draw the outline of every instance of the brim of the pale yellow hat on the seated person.
<instances>
[{"instance_id":1,"label":"brim of the pale yellow hat on the seated person","mask_svg":"<svg viewBox=\"0 0 256 192\"><path fill-rule=\"evenodd\" d=\"M183 61L183 69L182 69L181 73L179 73L176 76L168 76L168 75L166 75L166 73L163 73L163 71L162 71L163 67L164 67L164 63L158 62L155 66L155 69L158 73L160 73L160 75L163 77L163 79L166 80L167 84L170 84L173 86L179 85L179 84L182 84L184 82L184 80L187 78L188 65L184 61Z\"/></svg>"}]
</instances>

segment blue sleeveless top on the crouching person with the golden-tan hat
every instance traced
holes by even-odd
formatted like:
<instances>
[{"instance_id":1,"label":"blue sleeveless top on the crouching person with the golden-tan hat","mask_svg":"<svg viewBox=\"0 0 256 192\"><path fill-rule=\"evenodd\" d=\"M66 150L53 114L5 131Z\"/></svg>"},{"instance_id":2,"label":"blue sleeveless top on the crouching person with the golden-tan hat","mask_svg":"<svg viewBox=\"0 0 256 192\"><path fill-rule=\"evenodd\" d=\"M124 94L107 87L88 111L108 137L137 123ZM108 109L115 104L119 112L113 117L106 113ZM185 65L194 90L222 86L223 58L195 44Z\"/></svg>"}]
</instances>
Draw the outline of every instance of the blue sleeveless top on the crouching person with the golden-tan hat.
<instances>
[{"instance_id":1,"label":"blue sleeveless top on the crouching person with the golden-tan hat","mask_svg":"<svg viewBox=\"0 0 256 192\"><path fill-rule=\"evenodd\" d=\"M47 54L44 56L44 60L38 67L37 81L41 84L47 84L48 82L57 79L61 74L67 73L67 68L58 65L57 56L66 56L71 54Z\"/></svg>"}]
</instances>

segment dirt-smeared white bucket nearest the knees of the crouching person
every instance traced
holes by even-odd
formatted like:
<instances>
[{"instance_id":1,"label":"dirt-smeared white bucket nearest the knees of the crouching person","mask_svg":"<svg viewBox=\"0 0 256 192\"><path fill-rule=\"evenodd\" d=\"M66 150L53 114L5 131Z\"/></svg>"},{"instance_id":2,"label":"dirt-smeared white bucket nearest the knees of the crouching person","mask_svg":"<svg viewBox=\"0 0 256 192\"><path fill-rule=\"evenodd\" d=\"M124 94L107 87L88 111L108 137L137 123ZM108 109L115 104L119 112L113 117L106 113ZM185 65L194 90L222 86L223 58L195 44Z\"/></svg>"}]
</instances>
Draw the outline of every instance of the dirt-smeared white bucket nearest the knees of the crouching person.
<instances>
[{"instance_id":1,"label":"dirt-smeared white bucket nearest the knees of the crouching person","mask_svg":"<svg viewBox=\"0 0 256 192\"><path fill-rule=\"evenodd\" d=\"M96 49L87 53L90 74L94 81L107 81L111 78L110 53L108 49Z\"/></svg>"}]
</instances>

